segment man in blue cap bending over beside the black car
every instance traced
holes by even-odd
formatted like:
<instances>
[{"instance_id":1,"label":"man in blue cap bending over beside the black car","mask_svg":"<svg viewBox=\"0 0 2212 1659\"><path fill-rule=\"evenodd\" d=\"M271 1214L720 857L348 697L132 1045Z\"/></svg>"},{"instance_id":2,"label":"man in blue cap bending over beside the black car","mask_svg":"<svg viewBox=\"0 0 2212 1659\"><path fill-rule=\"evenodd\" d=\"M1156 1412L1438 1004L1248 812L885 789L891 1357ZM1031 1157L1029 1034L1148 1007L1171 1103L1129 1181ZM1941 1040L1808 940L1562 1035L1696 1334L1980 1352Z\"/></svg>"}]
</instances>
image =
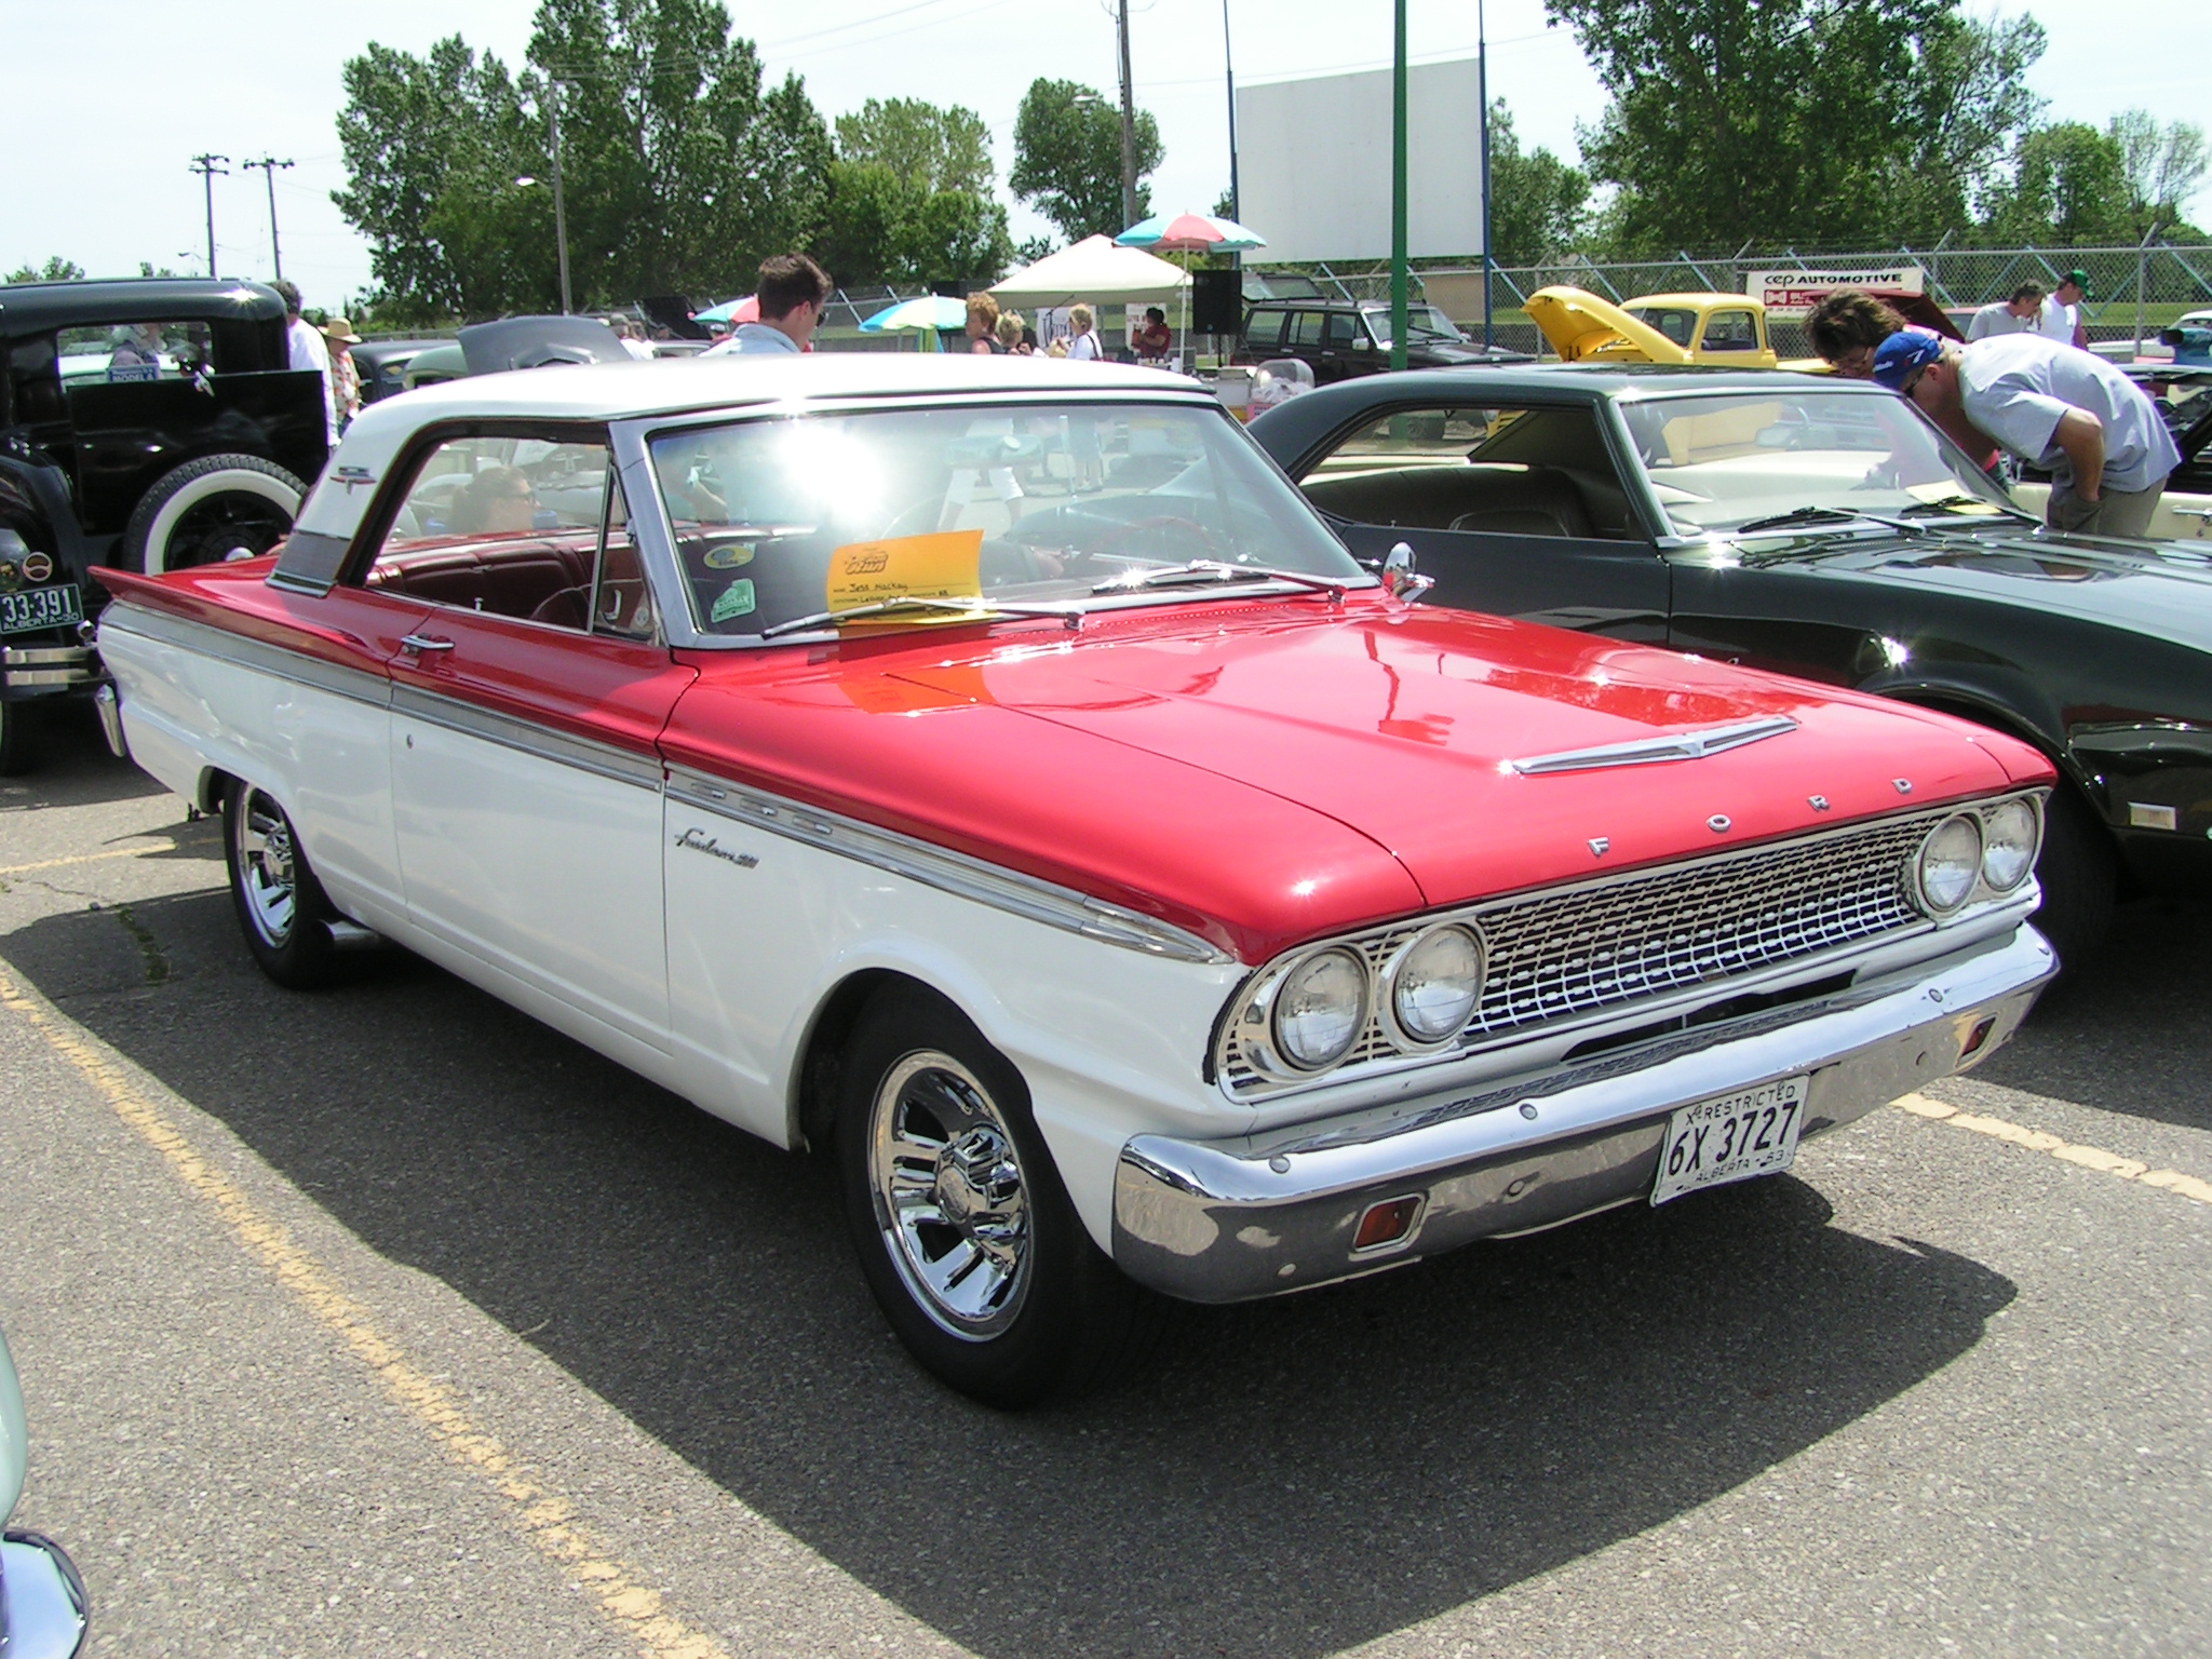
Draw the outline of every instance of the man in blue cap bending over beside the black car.
<instances>
[{"instance_id":1,"label":"man in blue cap bending over beside the black car","mask_svg":"<svg viewBox=\"0 0 2212 1659\"><path fill-rule=\"evenodd\" d=\"M2135 380L2042 334L1969 345L1891 334L1874 352L1874 378L1953 438L1964 427L2048 471L2044 522L2055 531L2143 535L2181 465L2166 418Z\"/></svg>"}]
</instances>

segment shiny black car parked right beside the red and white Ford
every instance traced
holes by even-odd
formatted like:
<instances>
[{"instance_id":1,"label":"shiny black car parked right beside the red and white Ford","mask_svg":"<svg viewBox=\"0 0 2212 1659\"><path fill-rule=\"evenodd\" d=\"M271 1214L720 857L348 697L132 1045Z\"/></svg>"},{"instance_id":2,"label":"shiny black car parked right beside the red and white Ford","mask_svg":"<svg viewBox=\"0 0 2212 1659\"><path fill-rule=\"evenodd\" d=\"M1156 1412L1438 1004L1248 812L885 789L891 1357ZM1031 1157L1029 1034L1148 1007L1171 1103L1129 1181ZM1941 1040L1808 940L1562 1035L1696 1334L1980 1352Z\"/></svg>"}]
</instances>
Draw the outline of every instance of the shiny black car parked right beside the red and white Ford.
<instances>
[{"instance_id":1,"label":"shiny black car parked right beside the red and white Ford","mask_svg":"<svg viewBox=\"0 0 2212 1659\"><path fill-rule=\"evenodd\" d=\"M2212 549L2053 535L1902 398L1648 365L1323 387L1252 436L1433 604L1668 644L2013 732L2064 783L2039 927L2212 889Z\"/></svg>"}]
</instances>

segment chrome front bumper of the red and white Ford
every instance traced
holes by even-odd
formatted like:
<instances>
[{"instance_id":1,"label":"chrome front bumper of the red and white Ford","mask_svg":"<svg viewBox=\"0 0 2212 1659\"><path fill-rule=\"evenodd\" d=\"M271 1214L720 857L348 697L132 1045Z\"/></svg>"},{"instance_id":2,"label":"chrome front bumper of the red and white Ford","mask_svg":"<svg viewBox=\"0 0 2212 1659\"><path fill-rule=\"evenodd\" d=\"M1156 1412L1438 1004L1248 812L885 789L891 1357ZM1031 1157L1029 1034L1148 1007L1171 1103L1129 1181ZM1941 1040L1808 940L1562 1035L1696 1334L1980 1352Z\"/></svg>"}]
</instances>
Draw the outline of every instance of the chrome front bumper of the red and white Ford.
<instances>
[{"instance_id":1,"label":"chrome front bumper of the red and white Ford","mask_svg":"<svg viewBox=\"0 0 2212 1659\"><path fill-rule=\"evenodd\" d=\"M1805 1135L1849 1124L1995 1053L2055 971L2022 925L1911 973L1542 1077L1265 1137L1139 1135L1115 1172L1115 1261L1170 1296L1230 1303L1630 1203L1652 1190L1677 1106L1809 1073ZM1420 1199L1411 1232L1356 1252L1360 1214L1400 1197Z\"/></svg>"}]
</instances>

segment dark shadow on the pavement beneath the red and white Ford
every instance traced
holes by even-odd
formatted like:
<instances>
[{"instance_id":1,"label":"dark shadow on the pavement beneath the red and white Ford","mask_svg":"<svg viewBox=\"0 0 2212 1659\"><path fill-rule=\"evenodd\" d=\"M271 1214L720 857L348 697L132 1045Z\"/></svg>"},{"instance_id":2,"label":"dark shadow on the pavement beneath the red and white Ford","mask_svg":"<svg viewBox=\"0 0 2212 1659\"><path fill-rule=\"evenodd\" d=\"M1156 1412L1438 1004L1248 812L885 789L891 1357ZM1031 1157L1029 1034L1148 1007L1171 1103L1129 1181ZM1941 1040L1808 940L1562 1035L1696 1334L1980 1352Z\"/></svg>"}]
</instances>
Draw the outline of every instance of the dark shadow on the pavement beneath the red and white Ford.
<instances>
[{"instance_id":1,"label":"dark shadow on the pavement beneath the red and white Ford","mask_svg":"<svg viewBox=\"0 0 2212 1659\"><path fill-rule=\"evenodd\" d=\"M228 896L0 938L369 1248L436 1274L863 1584L993 1659L1303 1659L1659 1526L1971 1349L2015 1287L1796 1177L1274 1303L1026 1416L914 1369L830 1168L392 953L292 995ZM93 982L88 962L113 960Z\"/></svg>"}]
</instances>

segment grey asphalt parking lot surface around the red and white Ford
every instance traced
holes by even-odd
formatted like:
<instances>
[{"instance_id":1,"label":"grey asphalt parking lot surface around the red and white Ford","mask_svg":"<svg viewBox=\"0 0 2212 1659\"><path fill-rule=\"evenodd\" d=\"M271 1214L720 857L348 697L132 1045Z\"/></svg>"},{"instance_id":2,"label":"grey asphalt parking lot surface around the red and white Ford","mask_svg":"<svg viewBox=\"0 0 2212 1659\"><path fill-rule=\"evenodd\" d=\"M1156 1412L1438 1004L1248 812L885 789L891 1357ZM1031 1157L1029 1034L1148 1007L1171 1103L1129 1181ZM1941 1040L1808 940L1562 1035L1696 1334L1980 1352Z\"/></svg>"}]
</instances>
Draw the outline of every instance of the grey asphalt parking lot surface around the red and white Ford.
<instances>
[{"instance_id":1,"label":"grey asphalt parking lot surface around the red and white Ford","mask_svg":"<svg viewBox=\"0 0 2212 1659\"><path fill-rule=\"evenodd\" d=\"M2212 1652L2205 907L1785 1177L1020 1418L825 1168L400 953L268 984L88 721L0 783L0 1077L18 1524L97 1655Z\"/></svg>"}]
</instances>

